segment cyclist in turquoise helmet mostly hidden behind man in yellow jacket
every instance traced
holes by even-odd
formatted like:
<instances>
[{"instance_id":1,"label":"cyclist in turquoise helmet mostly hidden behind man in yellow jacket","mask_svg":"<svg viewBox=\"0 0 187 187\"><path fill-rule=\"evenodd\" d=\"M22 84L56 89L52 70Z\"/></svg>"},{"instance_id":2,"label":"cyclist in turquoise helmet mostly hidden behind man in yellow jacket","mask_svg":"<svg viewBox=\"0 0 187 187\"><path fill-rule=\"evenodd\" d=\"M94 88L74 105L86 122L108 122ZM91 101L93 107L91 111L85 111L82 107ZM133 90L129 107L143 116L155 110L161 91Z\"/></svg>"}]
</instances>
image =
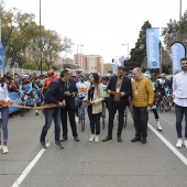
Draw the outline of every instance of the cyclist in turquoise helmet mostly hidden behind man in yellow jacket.
<instances>
[{"instance_id":1,"label":"cyclist in turquoise helmet mostly hidden behind man in yellow jacket","mask_svg":"<svg viewBox=\"0 0 187 187\"><path fill-rule=\"evenodd\" d=\"M151 80L151 75L150 74L143 74L143 76ZM154 92L155 92L155 85L154 85L154 82L152 80L151 80L151 82L152 82L152 87L153 87ZM155 105L155 98L154 98L153 106L152 106L152 112L154 113L154 118L156 120L157 130L162 131L163 129L162 129L162 127L160 124L160 117L158 117L156 105Z\"/></svg>"}]
</instances>

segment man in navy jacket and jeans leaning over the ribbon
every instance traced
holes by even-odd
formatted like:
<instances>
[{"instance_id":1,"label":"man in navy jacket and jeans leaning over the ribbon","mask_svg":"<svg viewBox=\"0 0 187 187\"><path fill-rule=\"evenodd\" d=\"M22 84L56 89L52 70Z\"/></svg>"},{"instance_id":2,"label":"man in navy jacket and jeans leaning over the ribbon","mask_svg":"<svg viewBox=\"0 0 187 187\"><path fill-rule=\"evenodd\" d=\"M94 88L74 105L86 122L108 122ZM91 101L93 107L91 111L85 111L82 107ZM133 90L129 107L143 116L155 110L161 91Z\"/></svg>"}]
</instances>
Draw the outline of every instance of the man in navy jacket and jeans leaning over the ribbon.
<instances>
[{"instance_id":1,"label":"man in navy jacket and jeans leaning over the ribbon","mask_svg":"<svg viewBox=\"0 0 187 187\"><path fill-rule=\"evenodd\" d=\"M51 82L50 87L47 88L44 103L55 103L57 107L44 109L45 114L45 124L42 129L40 144L42 148L46 148L45 144L45 136L47 134L48 129L52 125L52 121L54 120L55 123L55 146L58 148L64 148L59 142L59 133L61 133L61 107L65 107L65 82L69 80L69 73L68 70L62 70L61 78Z\"/></svg>"}]
</instances>

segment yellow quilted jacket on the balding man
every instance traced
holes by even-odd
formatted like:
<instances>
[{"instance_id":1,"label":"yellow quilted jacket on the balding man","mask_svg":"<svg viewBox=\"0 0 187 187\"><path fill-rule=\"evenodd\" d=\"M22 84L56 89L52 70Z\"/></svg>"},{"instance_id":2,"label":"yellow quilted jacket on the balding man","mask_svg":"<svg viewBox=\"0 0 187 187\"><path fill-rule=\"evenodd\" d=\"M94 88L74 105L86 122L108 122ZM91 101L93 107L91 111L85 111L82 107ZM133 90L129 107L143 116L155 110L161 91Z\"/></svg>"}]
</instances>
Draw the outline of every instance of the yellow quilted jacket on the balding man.
<instances>
[{"instance_id":1,"label":"yellow quilted jacket on the balding man","mask_svg":"<svg viewBox=\"0 0 187 187\"><path fill-rule=\"evenodd\" d=\"M147 107L153 103L154 90L150 79L140 77L139 80L133 79L132 82L131 105L134 107Z\"/></svg>"}]
</instances>

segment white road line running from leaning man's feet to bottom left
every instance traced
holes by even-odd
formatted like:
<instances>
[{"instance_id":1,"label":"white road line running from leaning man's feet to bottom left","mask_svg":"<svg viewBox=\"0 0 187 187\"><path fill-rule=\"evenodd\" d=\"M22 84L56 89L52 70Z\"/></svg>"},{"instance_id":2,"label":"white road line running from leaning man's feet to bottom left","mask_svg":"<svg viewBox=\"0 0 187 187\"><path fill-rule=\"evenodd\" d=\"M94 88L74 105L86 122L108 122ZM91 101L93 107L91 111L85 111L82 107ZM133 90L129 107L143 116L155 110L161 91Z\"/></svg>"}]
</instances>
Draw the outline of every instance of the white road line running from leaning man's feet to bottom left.
<instances>
[{"instance_id":1,"label":"white road line running from leaning man's feet to bottom left","mask_svg":"<svg viewBox=\"0 0 187 187\"><path fill-rule=\"evenodd\" d=\"M48 146L50 144L46 143L46 145ZM22 172L22 174L20 175L20 177L14 182L14 184L12 185L12 187L19 187L21 185L21 183L24 180L24 178L26 177L26 175L31 172L31 169L34 167L34 165L36 164L36 162L40 160L40 157L44 154L44 152L46 151L46 148L42 148L37 155L34 157L34 160L28 165L28 167Z\"/></svg>"}]
</instances>

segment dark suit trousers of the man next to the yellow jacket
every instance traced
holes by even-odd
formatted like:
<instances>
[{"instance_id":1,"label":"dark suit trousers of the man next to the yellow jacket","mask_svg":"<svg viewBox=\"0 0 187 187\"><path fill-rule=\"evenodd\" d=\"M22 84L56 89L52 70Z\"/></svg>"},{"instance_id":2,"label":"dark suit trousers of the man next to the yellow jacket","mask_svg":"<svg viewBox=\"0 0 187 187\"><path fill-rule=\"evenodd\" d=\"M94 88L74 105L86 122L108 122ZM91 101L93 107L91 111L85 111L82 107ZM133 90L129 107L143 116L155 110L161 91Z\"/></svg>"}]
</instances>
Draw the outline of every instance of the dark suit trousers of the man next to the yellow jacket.
<instances>
[{"instance_id":1,"label":"dark suit trousers of the man next to the yellow jacket","mask_svg":"<svg viewBox=\"0 0 187 187\"><path fill-rule=\"evenodd\" d=\"M122 133L122 129L123 129L123 124L124 124L124 106L121 102L114 102L112 101L109 105L109 127L108 127L108 135L112 136L112 130L113 130L113 119L114 119L114 114L118 110L118 114L119 114L119 125L118 125L118 132L117 135L121 135Z\"/></svg>"}]
</instances>

